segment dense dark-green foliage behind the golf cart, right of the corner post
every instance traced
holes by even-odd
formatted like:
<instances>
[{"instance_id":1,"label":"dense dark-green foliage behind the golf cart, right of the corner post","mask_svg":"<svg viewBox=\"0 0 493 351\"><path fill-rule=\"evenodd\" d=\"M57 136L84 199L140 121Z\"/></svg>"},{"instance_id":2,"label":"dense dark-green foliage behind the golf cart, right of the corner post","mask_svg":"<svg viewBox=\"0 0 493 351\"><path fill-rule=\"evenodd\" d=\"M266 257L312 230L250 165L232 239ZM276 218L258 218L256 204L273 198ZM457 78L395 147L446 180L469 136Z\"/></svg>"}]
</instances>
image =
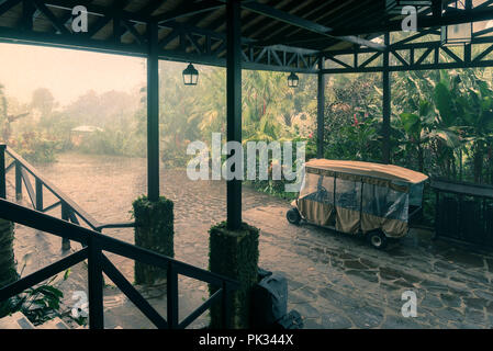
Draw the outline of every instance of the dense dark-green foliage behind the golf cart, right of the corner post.
<instances>
[{"instance_id":1,"label":"dense dark-green foliage behind the golf cart, right of the corner post","mask_svg":"<svg viewBox=\"0 0 493 351\"><path fill-rule=\"evenodd\" d=\"M434 177L493 183L493 87L486 73L394 73L392 161ZM372 73L330 80L326 158L381 160L380 81Z\"/></svg>"}]
</instances>

